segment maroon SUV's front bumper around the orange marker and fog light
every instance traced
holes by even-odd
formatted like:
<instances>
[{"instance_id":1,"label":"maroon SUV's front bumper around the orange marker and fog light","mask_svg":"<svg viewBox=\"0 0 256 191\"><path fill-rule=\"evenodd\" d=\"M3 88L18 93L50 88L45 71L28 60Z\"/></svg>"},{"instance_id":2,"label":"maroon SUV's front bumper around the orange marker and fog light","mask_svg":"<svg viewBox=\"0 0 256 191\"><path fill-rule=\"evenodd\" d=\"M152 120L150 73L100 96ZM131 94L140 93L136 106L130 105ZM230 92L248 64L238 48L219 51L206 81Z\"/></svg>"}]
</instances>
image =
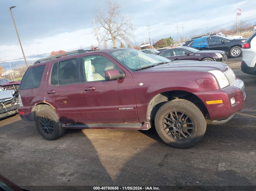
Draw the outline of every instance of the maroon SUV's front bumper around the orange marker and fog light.
<instances>
[{"instance_id":1,"label":"maroon SUV's front bumper around the orange marker and fog light","mask_svg":"<svg viewBox=\"0 0 256 191\"><path fill-rule=\"evenodd\" d=\"M245 104L246 94L244 92L244 82L236 78L234 86L228 86L220 90L205 91L194 93L204 103L208 110L211 121L225 123L227 118L234 113L243 109ZM235 103L231 105L231 98L235 98ZM207 104L206 101L223 100L223 103ZM229 119L228 119L229 120Z\"/></svg>"}]
</instances>

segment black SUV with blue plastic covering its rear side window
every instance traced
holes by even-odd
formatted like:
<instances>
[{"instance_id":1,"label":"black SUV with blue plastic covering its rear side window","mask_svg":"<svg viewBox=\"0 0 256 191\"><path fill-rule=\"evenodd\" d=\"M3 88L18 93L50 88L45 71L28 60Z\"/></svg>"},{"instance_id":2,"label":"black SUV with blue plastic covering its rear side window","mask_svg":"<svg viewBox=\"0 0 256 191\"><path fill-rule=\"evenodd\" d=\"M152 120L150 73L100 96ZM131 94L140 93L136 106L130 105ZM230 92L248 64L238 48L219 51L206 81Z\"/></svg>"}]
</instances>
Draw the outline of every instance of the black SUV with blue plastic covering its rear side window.
<instances>
[{"instance_id":1,"label":"black SUV with blue plastic covering its rear side window","mask_svg":"<svg viewBox=\"0 0 256 191\"><path fill-rule=\"evenodd\" d=\"M207 39L205 40L205 38ZM203 44L200 42L200 39L202 42L205 42L204 47L201 46ZM195 40L197 40L197 42L200 44L199 46L194 43ZM232 58L237 58L242 55L242 44L246 40L247 39L244 38L232 39L229 37L209 36L189 40L183 46L190 46L199 50L222 50L226 53L226 55L230 55Z\"/></svg>"}]
</instances>

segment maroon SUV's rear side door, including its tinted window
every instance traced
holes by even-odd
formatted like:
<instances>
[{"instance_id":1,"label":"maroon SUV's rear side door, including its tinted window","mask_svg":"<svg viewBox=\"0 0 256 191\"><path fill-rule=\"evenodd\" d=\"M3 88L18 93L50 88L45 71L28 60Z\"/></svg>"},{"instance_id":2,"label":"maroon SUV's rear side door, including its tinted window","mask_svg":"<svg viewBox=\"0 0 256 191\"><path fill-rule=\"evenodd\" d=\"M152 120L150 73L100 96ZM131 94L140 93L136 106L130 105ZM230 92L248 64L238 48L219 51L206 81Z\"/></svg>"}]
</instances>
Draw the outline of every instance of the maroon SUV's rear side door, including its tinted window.
<instances>
[{"instance_id":1,"label":"maroon SUV's rear side door, including its tinted window","mask_svg":"<svg viewBox=\"0 0 256 191\"><path fill-rule=\"evenodd\" d=\"M64 123L88 123L80 88L78 58L65 58L50 66L45 101L55 107Z\"/></svg>"}]
</instances>

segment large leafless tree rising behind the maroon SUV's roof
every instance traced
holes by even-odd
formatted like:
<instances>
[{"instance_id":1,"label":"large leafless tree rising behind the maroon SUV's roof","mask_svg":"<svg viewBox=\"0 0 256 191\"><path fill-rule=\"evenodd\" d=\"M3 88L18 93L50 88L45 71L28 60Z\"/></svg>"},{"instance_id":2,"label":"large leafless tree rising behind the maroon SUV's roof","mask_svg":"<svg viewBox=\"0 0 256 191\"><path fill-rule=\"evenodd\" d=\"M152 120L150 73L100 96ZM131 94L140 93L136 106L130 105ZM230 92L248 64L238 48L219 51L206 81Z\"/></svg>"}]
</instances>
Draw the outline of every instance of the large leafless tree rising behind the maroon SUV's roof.
<instances>
[{"instance_id":1,"label":"large leafless tree rising behind the maroon SUV's roof","mask_svg":"<svg viewBox=\"0 0 256 191\"><path fill-rule=\"evenodd\" d=\"M131 37L131 24L129 17L121 14L120 5L116 2L107 1L107 14L104 14L99 9L95 9L95 15L97 22L103 28L101 33L101 40L107 42L112 40L113 47L116 47L116 43L130 44Z\"/></svg>"}]
</instances>

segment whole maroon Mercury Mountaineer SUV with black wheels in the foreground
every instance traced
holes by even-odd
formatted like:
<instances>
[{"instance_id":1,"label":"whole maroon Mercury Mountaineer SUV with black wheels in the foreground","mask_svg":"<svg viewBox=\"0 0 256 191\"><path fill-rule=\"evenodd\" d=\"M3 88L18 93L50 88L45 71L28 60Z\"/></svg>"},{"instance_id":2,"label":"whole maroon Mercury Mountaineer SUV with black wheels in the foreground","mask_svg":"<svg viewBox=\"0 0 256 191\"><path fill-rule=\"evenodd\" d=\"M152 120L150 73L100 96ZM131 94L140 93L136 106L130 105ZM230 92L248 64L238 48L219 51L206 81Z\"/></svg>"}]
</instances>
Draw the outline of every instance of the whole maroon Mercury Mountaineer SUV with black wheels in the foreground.
<instances>
[{"instance_id":1,"label":"whole maroon Mercury Mountaineer SUV with black wheels in the foreground","mask_svg":"<svg viewBox=\"0 0 256 191\"><path fill-rule=\"evenodd\" d=\"M167 144L199 142L206 119L225 123L244 107L244 83L228 65L159 62L135 49L73 51L29 66L19 113L47 140L65 129L140 129L155 125Z\"/></svg>"}]
</instances>

